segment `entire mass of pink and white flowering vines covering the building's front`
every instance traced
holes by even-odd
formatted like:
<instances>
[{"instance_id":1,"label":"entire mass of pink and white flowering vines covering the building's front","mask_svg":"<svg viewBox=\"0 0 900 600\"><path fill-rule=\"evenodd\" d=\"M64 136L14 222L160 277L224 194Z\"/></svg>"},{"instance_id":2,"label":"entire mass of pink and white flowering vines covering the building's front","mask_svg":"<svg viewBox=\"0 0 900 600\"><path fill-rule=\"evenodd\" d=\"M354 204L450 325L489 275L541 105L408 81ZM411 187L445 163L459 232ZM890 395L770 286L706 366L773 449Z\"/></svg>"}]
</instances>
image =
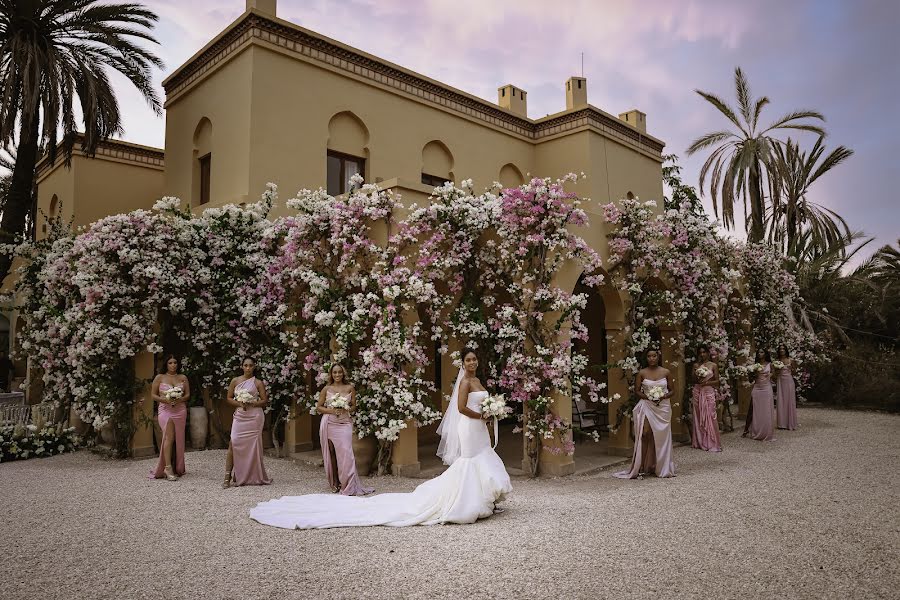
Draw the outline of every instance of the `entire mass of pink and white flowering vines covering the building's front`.
<instances>
[{"instance_id":1,"label":"entire mass of pink and white flowering vines covering the building's front","mask_svg":"<svg viewBox=\"0 0 900 600\"><path fill-rule=\"evenodd\" d=\"M404 429L440 418L440 356L458 360L450 348L468 345L485 384L517 407L532 474L542 455L574 451L563 406L616 399L588 375L582 313L601 286L628 300L615 366L629 379L661 335L677 352L667 360L690 360L704 343L726 372L737 372L754 336L788 344L801 360L816 351L811 334L779 318L796 286L777 257L722 239L690 199L602 207L611 230L602 265L575 233L590 225L566 191L576 179L480 194L471 181L448 183L423 206L404 206L355 177L340 197L301 190L287 202L291 214L274 220L269 184L248 206L197 215L164 198L77 235L57 223L46 240L16 250L25 259L22 348L45 400L71 404L95 429L116 424L123 452L140 353L177 347L215 397L253 357L273 432L314 411L340 363L356 385L357 434L378 441L383 472ZM573 272L574 292L564 278Z\"/></svg>"}]
</instances>

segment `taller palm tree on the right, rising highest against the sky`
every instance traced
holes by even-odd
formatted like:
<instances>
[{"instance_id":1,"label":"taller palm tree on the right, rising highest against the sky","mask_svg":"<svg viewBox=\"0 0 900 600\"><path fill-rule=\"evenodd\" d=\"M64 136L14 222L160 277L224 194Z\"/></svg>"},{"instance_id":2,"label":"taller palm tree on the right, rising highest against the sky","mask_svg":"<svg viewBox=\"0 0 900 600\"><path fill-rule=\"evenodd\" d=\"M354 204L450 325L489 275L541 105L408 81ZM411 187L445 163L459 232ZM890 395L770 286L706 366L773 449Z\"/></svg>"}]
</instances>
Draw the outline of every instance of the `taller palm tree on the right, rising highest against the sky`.
<instances>
[{"instance_id":1,"label":"taller palm tree on the right, rising highest against the sky","mask_svg":"<svg viewBox=\"0 0 900 600\"><path fill-rule=\"evenodd\" d=\"M825 117L814 110L797 110L789 112L767 127L760 127L759 117L769 99L763 96L754 100L751 97L750 86L740 67L734 71L734 84L738 99L737 111L714 94L695 91L725 115L737 131L721 130L707 133L694 140L687 153L692 155L706 148L715 147L700 170L700 192L703 193L706 178L710 176L709 190L713 210L718 217L721 191L722 223L729 229L734 227L735 200L742 199L750 240L759 242L765 233L763 190L764 180L768 174L767 165L771 158L772 146L779 143L771 136L772 132L799 129L825 135L825 131L818 125L804 122L804 119L824 121ZM748 200L749 218L747 218Z\"/></svg>"}]
</instances>

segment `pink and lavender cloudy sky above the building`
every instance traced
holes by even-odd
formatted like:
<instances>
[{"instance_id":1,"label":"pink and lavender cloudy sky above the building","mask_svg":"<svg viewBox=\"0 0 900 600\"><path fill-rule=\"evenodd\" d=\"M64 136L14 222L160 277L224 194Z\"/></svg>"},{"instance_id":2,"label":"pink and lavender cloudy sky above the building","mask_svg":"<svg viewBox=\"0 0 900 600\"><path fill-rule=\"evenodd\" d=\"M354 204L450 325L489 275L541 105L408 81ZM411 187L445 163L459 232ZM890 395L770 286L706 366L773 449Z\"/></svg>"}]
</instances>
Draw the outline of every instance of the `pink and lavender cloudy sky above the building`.
<instances>
[{"instance_id":1,"label":"pink and lavender cloudy sky above the building","mask_svg":"<svg viewBox=\"0 0 900 600\"><path fill-rule=\"evenodd\" d=\"M160 22L157 83L239 16L243 0L149 0ZM876 245L900 237L895 200L900 119L900 2L894 0L280 0L278 16L492 102L502 84L528 91L532 118L565 108L581 73L589 102L647 113L648 132L681 156L689 183L702 158L685 148L726 122L694 89L734 103L741 66L767 119L814 108L826 146L856 154L812 188ZM117 81L124 139L162 147L164 125ZM160 89L162 96L162 90ZM810 145L812 141L809 141ZM711 205L707 202L708 210Z\"/></svg>"}]
</instances>

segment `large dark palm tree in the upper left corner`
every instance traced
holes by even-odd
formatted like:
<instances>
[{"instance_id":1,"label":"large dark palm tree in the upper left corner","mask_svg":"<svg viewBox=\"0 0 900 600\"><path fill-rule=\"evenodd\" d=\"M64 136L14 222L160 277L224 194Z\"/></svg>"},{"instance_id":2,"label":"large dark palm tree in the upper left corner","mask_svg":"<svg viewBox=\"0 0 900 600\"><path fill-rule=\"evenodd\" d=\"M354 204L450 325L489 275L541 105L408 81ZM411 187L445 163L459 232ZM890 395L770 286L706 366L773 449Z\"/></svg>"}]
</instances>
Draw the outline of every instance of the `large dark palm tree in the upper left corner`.
<instances>
[{"instance_id":1,"label":"large dark palm tree in the upper left corner","mask_svg":"<svg viewBox=\"0 0 900 600\"><path fill-rule=\"evenodd\" d=\"M139 4L98 0L0 0L0 144L17 145L0 221L0 243L23 233L32 203L41 143L50 161L59 150L68 163L75 144L75 102L82 114L81 149L93 155L101 141L121 133L121 115L109 71L124 75L157 114L161 105L151 67L162 61L136 45L156 43L157 16ZM11 257L0 255L0 281Z\"/></svg>"}]
</instances>

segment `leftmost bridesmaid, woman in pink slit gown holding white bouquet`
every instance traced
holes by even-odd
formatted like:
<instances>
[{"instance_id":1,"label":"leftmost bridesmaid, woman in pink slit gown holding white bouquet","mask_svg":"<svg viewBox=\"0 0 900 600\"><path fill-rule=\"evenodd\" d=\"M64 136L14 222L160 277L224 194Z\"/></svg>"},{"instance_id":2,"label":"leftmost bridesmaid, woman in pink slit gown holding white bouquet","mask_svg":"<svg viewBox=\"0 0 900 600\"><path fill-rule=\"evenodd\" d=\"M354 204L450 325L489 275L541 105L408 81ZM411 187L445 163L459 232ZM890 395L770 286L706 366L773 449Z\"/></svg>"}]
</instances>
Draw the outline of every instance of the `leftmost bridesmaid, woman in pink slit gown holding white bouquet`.
<instances>
[{"instance_id":1,"label":"leftmost bridesmaid, woman in pink slit gown holding white bouquet","mask_svg":"<svg viewBox=\"0 0 900 600\"><path fill-rule=\"evenodd\" d=\"M159 447L159 462L150 474L151 479L165 477L169 481L178 481L178 476L185 474L184 468L184 426L187 423L187 401L191 397L191 386L187 377L178 372L178 359L173 354L166 356L162 373L153 378L150 397L159 404L157 418L163 432ZM181 397L172 400L163 394L180 387ZM172 454L175 455L175 469L172 470Z\"/></svg>"}]
</instances>

